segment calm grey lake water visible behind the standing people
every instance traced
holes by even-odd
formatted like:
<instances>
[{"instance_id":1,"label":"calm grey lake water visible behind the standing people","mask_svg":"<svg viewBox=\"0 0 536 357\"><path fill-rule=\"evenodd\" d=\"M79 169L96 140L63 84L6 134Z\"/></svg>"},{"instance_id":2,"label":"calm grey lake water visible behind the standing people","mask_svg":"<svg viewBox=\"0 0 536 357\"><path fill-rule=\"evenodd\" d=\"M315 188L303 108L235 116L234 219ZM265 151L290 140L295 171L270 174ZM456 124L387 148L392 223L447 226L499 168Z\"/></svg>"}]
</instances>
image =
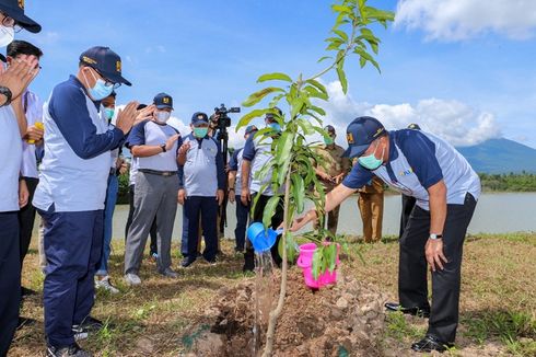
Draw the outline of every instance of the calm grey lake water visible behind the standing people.
<instances>
[{"instance_id":1,"label":"calm grey lake water visible behind the standing people","mask_svg":"<svg viewBox=\"0 0 536 357\"><path fill-rule=\"evenodd\" d=\"M359 214L357 196L345 200L341 205L338 233L362 234L363 226ZM398 234L400 222L401 199L399 195L385 197L383 234ZM234 237L236 216L235 206L228 206L228 227L225 237ZM518 231L536 231L536 193L501 193L482 194L475 216L469 226L469 233L509 233ZM125 237L125 222L128 206L117 206L114 216L114 238ZM174 239L179 239L183 229L183 208L179 205L175 218Z\"/></svg>"}]
</instances>

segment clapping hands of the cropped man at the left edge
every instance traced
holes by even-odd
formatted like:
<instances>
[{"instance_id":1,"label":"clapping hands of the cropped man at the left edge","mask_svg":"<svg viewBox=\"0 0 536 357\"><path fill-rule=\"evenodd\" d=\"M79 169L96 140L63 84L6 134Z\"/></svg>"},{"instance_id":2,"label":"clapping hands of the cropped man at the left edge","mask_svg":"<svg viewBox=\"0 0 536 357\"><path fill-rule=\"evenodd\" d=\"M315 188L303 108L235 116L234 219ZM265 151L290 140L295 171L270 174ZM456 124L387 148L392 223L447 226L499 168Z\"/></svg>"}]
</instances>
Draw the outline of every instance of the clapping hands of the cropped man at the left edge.
<instances>
[{"instance_id":1,"label":"clapping hands of the cropped man at the left edge","mask_svg":"<svg viewBox=\"0 0 536 357\"><path fill-rule=\"evenodd\" d=\"M26 90L38 73L38 58L35 56L22 56L13 60L5 70L3 66L0 66L0 85L9 88L11 100L14 100ZM4 96L1 96L0 105L5 104L5 100Z\"/></svg>"}]
</instances>

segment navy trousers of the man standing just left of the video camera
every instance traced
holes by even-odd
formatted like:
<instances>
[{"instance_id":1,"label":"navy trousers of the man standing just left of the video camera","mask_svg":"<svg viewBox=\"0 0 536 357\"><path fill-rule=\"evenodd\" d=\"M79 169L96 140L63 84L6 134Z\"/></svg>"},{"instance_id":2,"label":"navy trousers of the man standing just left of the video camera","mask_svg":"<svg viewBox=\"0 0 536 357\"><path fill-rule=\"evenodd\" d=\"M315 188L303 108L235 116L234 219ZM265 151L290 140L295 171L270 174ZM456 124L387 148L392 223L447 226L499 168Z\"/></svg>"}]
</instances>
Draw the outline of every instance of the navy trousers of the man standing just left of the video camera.
<instances>
[{"instance_id":1,"label":"navy trousers of the man standing just left of the video camera","mask_svg":"<svg viewBox=\"0 0 536 357\"><path fill-rule=\"evenodd\" d=\"M184 203L180 252L185 257L191 260L197 257L199 219L201 220L202 234L205 237L202 256L211 262L218 253L218 200L215 200L215 196L188 196Z\"/></svg>"}]
</instances>

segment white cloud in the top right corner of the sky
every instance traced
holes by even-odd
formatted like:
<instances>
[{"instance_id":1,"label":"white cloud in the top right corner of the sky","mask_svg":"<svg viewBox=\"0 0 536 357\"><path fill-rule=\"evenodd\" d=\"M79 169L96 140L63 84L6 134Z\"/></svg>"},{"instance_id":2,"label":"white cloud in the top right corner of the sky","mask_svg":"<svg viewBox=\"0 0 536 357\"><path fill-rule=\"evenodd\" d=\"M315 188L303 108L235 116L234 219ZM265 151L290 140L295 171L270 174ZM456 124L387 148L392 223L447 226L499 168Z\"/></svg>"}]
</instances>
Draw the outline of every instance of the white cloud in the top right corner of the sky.
<instances>
[{"instance_id":1,"label":"white cloud in the top right corner of the sky","mask_svg":"<svg viewBox=\"0 0 536 357\"><path fill-rule=\"evenodd\" d=\"M523 39L536 30L534 0L400 0L395 25L428 39L463 41L488 32Z\"/></svg>"}]
</instances>

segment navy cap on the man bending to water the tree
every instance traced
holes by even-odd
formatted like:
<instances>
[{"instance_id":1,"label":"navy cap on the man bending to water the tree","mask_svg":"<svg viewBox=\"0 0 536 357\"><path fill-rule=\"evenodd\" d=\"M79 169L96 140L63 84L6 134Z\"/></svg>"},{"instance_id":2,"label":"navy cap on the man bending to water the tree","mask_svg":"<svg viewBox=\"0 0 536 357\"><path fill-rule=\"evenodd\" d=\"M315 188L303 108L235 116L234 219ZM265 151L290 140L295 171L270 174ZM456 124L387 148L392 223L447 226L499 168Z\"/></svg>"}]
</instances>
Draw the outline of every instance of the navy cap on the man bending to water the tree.
<instances>
[{"instance_id":1,"label":"navy cap on the man bending to water the tree","mask_svg":"<svg viewBox=\"0 0 536 357\"><path fill-rule=\"evenodd\" d=\"M348 149L345 157L357 158L366 151L372 141L376 140L385 133L385 127L378 119L372 116L360 116L348 125L346 139Z\"/></svg>"}]
</instances>

